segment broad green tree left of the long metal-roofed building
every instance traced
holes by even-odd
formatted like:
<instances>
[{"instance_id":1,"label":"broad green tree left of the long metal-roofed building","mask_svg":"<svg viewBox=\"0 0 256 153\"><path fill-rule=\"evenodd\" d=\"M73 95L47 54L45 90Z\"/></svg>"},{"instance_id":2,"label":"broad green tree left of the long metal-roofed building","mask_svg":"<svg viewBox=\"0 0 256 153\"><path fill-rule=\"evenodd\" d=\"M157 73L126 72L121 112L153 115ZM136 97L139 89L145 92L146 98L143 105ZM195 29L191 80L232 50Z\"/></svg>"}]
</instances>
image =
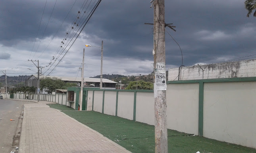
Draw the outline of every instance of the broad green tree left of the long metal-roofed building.
<instances>
[{"instance_id":1,"label":"broad green tree left of the long metal-roofed building","mask_svg":"<svg viewBox=\"0 0 256 153\"><path fill-rule=\"evenodd\" d=\"M40 81L40 90L46 91L49 94L52 94L56 89L67 89L67 87L74 87L76 83L65 83L57 77L46 77Z\"/></svg>"}]
</instances>

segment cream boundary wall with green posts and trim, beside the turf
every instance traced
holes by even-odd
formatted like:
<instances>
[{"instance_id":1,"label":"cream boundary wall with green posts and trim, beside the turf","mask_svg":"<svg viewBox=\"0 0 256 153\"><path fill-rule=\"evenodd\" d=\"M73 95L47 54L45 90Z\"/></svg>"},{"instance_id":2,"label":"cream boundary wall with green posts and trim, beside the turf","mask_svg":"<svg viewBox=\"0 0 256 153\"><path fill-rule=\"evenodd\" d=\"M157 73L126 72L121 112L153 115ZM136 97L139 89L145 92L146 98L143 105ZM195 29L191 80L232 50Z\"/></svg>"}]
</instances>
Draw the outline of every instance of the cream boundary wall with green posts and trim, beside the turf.
<instances>
[{"instance_id":1,"label":"cream boundary wall with green posts and trim, beside the turf","mask_svg":"<svg viewBox=\"0 0 256 153\"><path fill-rule=\"evenodd\" d=\"M153 91L83 91L94 111L154 125ZM166 95L167 128L256 148L256 77L169 81Z\"/></svg>"}]
</instances>

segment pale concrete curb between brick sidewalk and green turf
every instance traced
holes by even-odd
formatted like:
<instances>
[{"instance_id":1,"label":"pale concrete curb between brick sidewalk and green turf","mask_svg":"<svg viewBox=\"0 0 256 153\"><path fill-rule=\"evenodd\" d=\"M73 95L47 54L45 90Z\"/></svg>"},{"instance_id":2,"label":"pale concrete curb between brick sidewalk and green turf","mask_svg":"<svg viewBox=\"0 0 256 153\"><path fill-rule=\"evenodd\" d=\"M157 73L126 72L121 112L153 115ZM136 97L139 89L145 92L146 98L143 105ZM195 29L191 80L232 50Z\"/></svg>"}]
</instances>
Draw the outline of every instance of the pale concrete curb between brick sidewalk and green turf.
<instances>
[{"instance_id":1,"label":"pale concrete curb between brick sidewalk and green turf","mask_svg":"<svg viewBox=\"0 0 256 153\"><path fill-rule=\"evenodd\" d=\"M53 108L54 109L54 108ZM88 130L92 131L93 133L101 136L103 139L105 139L106 141L110 142L111 144L115 145L116 147L122 149L125 153L131 153L131 151L128 151L127 149L125 149L124 147L122 147L121 145L115 143L114 141L110 140L109 138L103 136L102 134L100 134L99 132L97 132L96 130L93 130L92 128L87 127L86 125L84 125L83 123L80 123L79 121L77 121L76 119L70 117L69 115L61 112L60 110L55 109L56 111L59 111L60 113L64 114L65 116L69 117L70 119L72 119L73 121L76 121L77 123L79 123L80 125L82 125L83 127L87 128Z\"/></svg>"}]
</instances>

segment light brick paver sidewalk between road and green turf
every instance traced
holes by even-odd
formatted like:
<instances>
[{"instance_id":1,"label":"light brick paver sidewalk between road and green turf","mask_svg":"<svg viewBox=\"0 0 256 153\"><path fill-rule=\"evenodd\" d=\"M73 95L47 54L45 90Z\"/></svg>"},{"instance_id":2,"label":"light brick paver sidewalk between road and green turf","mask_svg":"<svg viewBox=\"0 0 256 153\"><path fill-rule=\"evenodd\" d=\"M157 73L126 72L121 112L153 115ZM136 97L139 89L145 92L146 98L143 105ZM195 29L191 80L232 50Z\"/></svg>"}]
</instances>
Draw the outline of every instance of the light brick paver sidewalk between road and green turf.
<instances>
[{"instance_id":1,"label":"light brick paver sidewalk between road and green turf","mask_svg":"<svg viewBox=\"0 0 256 153\"><path fill-rule=\"evenodd\" d=\"M46 104L25 104L19 153L129 152Z\"/></svg>"}]
</instances>

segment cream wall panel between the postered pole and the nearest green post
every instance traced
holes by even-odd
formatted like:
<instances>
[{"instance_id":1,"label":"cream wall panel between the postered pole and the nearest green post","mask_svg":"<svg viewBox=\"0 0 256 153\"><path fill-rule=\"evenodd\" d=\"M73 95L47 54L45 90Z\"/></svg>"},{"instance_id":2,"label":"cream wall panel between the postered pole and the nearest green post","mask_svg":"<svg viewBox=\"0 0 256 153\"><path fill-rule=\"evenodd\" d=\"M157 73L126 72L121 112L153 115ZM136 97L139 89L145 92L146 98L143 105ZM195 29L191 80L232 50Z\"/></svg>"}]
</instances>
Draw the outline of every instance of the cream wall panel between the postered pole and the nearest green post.
<instances>
[{"instance_id":1,"label":"cream wall panel between the postered pole and the nearest green post","mask_svg":"<svg viewBox=\"0 0 256 153\"><path fill-rule=\"evenodd\" d=\"M198 135L198 83L168 84L167 128Z\"/></svg>"}]
</instances>

